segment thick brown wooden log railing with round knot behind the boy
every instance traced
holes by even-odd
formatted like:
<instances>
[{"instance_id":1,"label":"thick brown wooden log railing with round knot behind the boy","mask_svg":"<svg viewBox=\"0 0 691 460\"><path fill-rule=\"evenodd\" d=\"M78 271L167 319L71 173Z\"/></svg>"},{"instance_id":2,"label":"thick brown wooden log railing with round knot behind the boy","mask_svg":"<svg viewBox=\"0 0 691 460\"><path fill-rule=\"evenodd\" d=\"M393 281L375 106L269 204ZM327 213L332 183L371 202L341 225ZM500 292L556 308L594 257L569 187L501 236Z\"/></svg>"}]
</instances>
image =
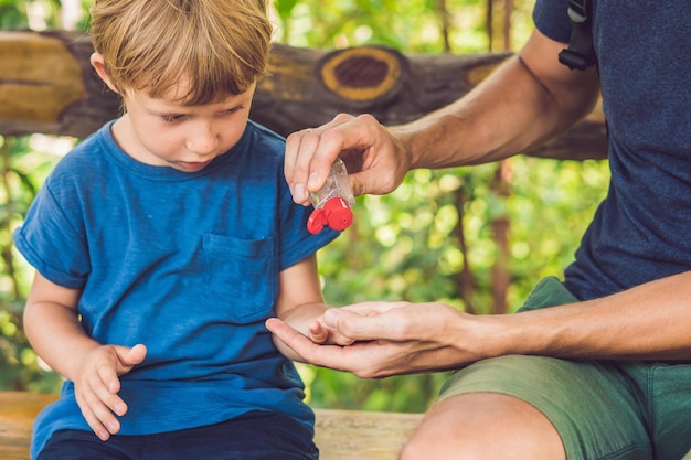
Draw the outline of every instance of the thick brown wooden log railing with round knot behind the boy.
<instances>
[{"instance_id":1,"label":"thick brown wooden log railing with round knot behind the boy","mask_svg":"<svg viewBox=\"0 0 691 460\"><path fill-rule=\"evenodd\" d=\"M85 137L117 116L118 97L89 64L79 32L0 31L0 135ZM451 103L509 54L419 55L390 47L338 51L275 44L270 76L259 82L251 117L281 135L322 125L338 113L371 113L403 124ZM527 152L582 160L606 157L602 110Z\"/></svg>"}]
</instances>

